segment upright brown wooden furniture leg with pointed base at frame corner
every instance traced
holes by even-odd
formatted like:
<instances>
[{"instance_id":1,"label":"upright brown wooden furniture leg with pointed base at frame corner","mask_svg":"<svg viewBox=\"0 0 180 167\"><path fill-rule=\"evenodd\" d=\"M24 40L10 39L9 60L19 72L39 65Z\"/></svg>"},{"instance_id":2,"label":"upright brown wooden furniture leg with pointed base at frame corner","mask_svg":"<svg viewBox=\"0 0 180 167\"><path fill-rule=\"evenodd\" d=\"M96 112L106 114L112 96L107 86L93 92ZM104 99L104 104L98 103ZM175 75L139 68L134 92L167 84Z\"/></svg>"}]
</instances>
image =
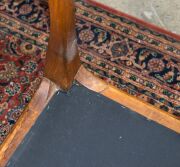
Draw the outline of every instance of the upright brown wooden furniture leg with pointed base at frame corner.
<instances>
[{"instance_id":1,"label":"upright brown wooden furniture leg with pointed base at frame corner","mask_svg":"<svg viewBox=\"0 0 180 167\"><path fill-rule=\"evenodd\" d=\"M67 91L80 66L73 0L49 0L50 39L45 76Z\"/></svg>"}]
</instances>

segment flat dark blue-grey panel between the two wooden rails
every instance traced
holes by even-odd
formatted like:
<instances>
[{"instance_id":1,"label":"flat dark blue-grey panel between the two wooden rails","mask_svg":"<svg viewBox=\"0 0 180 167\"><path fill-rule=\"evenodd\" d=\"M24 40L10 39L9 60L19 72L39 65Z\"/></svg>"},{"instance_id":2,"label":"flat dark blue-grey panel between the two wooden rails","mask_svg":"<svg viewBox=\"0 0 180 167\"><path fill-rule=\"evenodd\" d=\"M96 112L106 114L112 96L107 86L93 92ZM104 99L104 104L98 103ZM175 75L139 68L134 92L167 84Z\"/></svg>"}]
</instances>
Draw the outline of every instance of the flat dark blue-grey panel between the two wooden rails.
<instances>
[{"instance_id":1,"label":"flat dark blue-grey panel between the two wooden rails","mask_svg":"<svg viewBox=\"0 0 180 167\"><path fill-rule=\"evenodd\" d=\"M179 167L178 134L83 87L56 95L9 167Z\"/></svg>"}]
</instances>

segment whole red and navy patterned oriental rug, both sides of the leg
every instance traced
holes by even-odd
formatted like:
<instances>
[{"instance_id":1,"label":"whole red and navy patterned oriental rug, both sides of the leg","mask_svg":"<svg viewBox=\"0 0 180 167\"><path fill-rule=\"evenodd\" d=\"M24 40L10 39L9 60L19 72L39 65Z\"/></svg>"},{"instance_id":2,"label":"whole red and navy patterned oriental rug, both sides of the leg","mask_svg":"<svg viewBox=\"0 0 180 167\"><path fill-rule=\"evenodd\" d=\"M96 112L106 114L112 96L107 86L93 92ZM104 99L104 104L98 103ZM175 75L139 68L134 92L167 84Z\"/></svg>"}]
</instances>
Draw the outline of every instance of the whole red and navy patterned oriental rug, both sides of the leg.
<instances>
[{"instance_id":1,"label":"whole red and navy patterned oriental rug, both sides of the leg","mask_svg":"<svg viewBox=\"0 0 180 167\"><path fill-rule=\"evenodd\" d=\"M180 119L180 36L88 1L76 16L86 69ZM47 2L0 1L0 145L41 83L48 38Z\"/></svg>"}]
</instances>

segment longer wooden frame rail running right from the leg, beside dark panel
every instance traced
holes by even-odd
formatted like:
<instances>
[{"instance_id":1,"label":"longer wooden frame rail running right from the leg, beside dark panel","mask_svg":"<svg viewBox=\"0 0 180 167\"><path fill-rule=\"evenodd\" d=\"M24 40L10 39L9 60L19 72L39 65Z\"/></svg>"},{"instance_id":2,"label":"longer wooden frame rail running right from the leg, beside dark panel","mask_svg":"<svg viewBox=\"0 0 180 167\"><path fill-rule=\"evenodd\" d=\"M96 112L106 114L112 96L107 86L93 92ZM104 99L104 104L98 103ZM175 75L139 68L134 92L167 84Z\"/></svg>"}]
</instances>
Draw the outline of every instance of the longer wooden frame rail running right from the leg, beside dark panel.
<instances>
[{"instance_id":1,"label":"longer wooden frame rail running right from the leg, beside dark panel","mask_svg":"<svg viewBox=\"0 0 180 167\"><path fill-rule=\"evenodd\" d=\"M87 71L83 66L81 66L78 71L76 80L88 89L98 92L121 105L124 105L132 111L145 116L149 120L153 120L177 133L180 133L180 120L155 108L153 105L142 102L120 89L107 84L107 82L97 78L91 72Z\"/></svg>"}]
</instances>

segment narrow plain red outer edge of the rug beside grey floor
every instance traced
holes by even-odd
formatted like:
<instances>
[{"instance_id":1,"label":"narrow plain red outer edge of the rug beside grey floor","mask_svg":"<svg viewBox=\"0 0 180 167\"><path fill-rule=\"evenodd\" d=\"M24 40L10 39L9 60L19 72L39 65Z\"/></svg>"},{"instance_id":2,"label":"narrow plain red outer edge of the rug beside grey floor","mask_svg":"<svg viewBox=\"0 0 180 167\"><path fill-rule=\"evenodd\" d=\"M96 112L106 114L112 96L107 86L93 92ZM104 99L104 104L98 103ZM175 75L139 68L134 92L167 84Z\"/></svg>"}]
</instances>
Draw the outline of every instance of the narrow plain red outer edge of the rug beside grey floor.
<instances>
[{"instance_id":1,"label":"narrow plain red outer edge of the rug beside grey floor","mask_svg":"<svg viewBox=\"0 0 180 167\"><path fill-rule=\"evenodd\" d=\"M112 8L112 7L109 7L109 6L107 6L107 5L104 5L104 4L102 4L101 2L97 2L97 1L95 1L95 0L84 0L84 2L87 2L87 3L89 3L89 4L91 4L91 5L94 5L94 6L98 6L98 7L102 8L102 9L104 9L104 10L106 10L106 11L108 11L108 12L111 12L111 13L113 13L113 14L116 14L116 15L118 15L118 16L123 16L123 17L125 17L125 18L127 18L127 19L129 19L129 20L131 20L131 21L135 21L136 23L138 23L138 24L140 24L140 25L142 25L142 26L145 26L145 27L148 28L148 29L151 29L151 30L154 30L154 31L158 31L158 32L160 32L160 33L163 33L163 34L165 34L165 35L168 35L168 36L170 36L170 37L173 37L173 38L175 38L176 40L180 40L180 34L175 34L175 33L171 32L171 31L166 30L166 29L164 29L164 28L162 28L162 27L159 27L159 26L157 26L157 25L155 25L155 24L153 24L153 23L149 23L149 22L147 22L147 21L145 21L145 20L142 20L142 19L137 18L137 17L135 17L135 16L129 15L129 14L127 14L127 13L124 13L124 12L122 12L122 11L119 11L119 10L117 10L117 9L114 9L114 8Z\"/></svg>"}]
</instances>

